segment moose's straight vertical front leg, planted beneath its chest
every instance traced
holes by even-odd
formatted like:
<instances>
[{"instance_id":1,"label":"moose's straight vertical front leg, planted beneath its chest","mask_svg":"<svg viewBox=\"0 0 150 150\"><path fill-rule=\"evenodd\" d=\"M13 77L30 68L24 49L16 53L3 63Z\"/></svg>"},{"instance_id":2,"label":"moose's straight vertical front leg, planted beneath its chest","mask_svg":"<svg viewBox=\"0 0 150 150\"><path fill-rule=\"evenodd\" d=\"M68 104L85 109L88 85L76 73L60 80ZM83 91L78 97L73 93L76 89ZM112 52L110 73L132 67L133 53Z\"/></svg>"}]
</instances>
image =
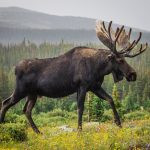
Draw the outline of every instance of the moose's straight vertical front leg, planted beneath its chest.
<instances>
[{"instance_id":1,"label":"moose's straight vertical front leg, planted beneath its chest","mask_svg":"<svg viewBox=\"0 0 150 150\"><path fill-rule=\"evenodd\" d=\"M82 130L82 115L84 111L85 96L86 96L86 89L80 87L77 91L78 130Z\"/></svg>"}]
</instances>

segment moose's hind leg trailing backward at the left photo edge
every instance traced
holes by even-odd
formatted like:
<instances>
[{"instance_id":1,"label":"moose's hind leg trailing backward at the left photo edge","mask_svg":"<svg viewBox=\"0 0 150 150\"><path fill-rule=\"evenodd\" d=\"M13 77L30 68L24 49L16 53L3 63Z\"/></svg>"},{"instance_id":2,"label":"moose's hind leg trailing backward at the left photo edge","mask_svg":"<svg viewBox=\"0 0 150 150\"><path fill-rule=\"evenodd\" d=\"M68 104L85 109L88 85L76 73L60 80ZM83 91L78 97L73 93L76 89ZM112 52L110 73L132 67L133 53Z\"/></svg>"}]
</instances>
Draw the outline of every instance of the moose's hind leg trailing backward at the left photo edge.
<instances>
[{"instance_id":1,"label":"moose's hind leg trailing backward at the left photo edge","mask_svg":"<svg viewBox=\"0 0 150 150\"><path fill-rule=\"evenodd\" d=\"M0 123L4 122L5 114L8 109L18 103L24 97L25 96L19 94L18 92L14 92L9 98L2 102L2 107L0 110Z\"/></svg>"}]
</instances>

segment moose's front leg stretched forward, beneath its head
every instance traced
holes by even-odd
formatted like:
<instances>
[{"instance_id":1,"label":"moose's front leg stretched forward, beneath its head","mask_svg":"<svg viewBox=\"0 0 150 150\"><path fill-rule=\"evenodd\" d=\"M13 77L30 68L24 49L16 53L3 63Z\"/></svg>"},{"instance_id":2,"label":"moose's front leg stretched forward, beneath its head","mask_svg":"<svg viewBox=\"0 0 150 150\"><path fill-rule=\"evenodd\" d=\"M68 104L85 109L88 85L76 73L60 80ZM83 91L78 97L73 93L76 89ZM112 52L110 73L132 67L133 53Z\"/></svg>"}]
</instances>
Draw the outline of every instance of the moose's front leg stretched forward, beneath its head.
<instances>
[{"instance_id":1,"label":"moose's front leg stretched forward, beneath its head","mask_svg":"<svg viewBox=\"0 0 150 150\"><path fill-rule=\"evenodd\" d=\"M121 127L120 117L118 115L118 112L116 110L116 107L115 107L112 97L110 95L108 95L102 87L96 88L96 89L92 90L92 92L95 95L97 95L99 98L107 100L109 102L109 104L113 110L113 113L114 113L115 123L117 124L117 126Z\"/></svg>"}]
</instances>

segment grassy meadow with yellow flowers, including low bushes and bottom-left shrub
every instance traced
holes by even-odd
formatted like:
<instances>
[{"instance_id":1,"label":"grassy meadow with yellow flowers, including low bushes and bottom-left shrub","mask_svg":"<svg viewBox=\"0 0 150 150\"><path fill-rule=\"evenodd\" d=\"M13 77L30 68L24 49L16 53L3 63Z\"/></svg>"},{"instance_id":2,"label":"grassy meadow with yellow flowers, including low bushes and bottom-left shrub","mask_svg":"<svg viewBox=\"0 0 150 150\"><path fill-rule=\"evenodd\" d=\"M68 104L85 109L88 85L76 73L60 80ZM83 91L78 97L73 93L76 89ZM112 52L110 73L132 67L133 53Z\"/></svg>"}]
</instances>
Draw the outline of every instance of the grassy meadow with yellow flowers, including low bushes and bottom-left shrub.
<instances>
[{"instance_id":1,"label":"grassy meadow with yellow flowers, including low bushes and bottom-left shrub","mask_svg":"<svg viewBox=\"0 0 150 150\"><path fill-rule=\"evenodd\" d=\"M14 121L0 127L0 131L2 126L5 128L3 133L0 133L0 149L137 150L150 148L150 113L146 111L127 114L122 128L117 127L112 120L100 123L87 122L85 114L82 132L76 129L75 112L68 113L69 116L64 117L55 116L54 113L55 111L34 116L42 132L39 135L32 131L26 121L22 122L25 120L23 115L14 116L13 120L18 119L17 123ZM46 121L48 118L49 120Z\"/></svg>"}]
</instances>

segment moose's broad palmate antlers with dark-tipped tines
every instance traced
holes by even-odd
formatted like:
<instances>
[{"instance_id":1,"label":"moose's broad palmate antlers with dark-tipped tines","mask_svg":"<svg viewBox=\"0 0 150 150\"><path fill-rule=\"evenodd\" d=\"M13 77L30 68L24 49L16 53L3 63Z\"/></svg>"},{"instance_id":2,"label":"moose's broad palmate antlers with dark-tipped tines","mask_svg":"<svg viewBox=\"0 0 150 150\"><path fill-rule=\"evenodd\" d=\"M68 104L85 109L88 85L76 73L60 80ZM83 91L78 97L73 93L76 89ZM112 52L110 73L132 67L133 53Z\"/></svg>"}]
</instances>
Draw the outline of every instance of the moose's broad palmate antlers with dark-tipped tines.
<instances>
[{"instance_id":1,"label":"moose's broad palmate antlers with dark-tipped tines","mask_svg":"<svg viewBox=\"0 0 150 150\"><path fill-rule=\"evenodd\" d=\"M115 32L113 31L111 26L112 21L109 22L108 29L106 28L104 22L97 22L96 34L99 40L116 55L123 55L124 57L135 57L143 53L147 49L148 47L147 43L145 44L144 48L143 45L141 44L138 53L130 54L132 49L134 49L135 46L140 41L142 33L141 32L139 33L139 37L137 38L137 40L134 40L133 42L130 43L130 36L132 32L131 28L129 29L128 34L126 34L124 26L122 26L121 28L118 27ZM122 50L117 51L117 46L122 47Z\"/></svg>"}]
</instances>

